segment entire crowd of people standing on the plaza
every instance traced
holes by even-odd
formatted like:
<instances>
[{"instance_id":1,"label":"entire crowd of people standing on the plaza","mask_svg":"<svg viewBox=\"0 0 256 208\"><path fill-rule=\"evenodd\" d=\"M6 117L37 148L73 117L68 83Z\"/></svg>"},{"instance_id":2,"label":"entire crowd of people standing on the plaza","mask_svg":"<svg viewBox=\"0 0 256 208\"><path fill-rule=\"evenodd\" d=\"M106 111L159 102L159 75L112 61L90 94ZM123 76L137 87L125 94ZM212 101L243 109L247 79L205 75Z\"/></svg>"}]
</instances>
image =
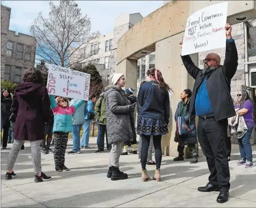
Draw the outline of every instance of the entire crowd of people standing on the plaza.
<instances>
[{"instance_id":1,"label":"entire crowd of people standing on the plaza","mask_svg":"<svg viewBox=\"0 0 256 208\"><path fill-rule=\"evenodd\" d=\"M237 93L234 101L230 95L230 81L238 66L238 54L231 37L231 26L226 24L226 57L221 66L217 54L208 54L204 59L204 69L194 65L189 55L181 56L189 75L195 79L193 91L184 89L174 117L170 117L169 92L172 89L165 82L160 70L155 68L146 72L146 80L140 84L139 93L125 86L123 74L109 76L108 87L88 101L48 95L43 77L39 70L29 69L24 75L24 83L15 88L13 97L10 91L3 89L1 94L1 122L3 128L3 149L7 146L10 122L15 123L14 142L7 159L6 180L16 176L13 171L19 150L25 140L31 142L31 157L34 165L35 182L50 180L42 172L42 153L54 153L55 170L69 170L65 165L68 133L72 133L73 148L68 154L78 154L81 148L91 148L89 144L90 124L95 119L98 127L97 151L109 151L107 177L112 181L125 180L128 174L119 169L120 156L137 154L137 136L140 136L139 159L141 162L141 181L151 180L146 165L155 165L153 180L161 181L162 160L161 138L168 133L172 119L176 121L174 141L178 143L178 157L174 161L184 160L184 147L192 153L191 164L198 162L197 138L202 152L206 156L210 171L206 186L198 191L220 191L217 202L224 203L229 198L231 152L230 134L237 133L241 160L237 165L253 167L250 136L254 128L253 101L246 90ZM182 47L182 41L180 42ZM93 103L95 103L95 109ZM135 112L137 109L137 125ZM196 127L196 116L199 117ZM2 129L1 128L1 129ZM80 141L80 131L83 136ZM13 130L11 130L13 131ZM54 151L50 149L54 135ZM42 147L40 147L42 146ZM41 149L42 148L42 149ZM155 149L155 162L152 160Z\"/></svg>"}]
</instances>

